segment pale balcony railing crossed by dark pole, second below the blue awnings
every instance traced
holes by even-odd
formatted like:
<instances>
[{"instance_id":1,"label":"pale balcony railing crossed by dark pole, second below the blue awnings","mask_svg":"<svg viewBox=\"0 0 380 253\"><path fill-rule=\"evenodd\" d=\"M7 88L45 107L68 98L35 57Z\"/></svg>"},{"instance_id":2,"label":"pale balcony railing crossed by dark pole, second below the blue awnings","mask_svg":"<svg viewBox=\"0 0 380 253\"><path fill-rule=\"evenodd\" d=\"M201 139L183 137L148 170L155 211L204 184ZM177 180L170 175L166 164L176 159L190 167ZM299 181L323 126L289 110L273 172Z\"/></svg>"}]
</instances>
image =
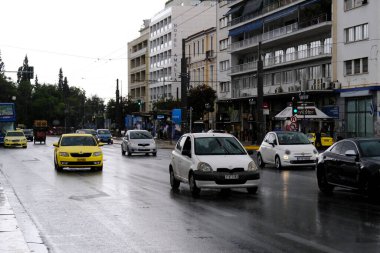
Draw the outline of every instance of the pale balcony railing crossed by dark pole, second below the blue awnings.
<instances>
[{"instance_id":1,"label":"pale balcony railing crossed by dark pole, second below the blue awnings","mask_svg":"<svg viewBox=\"0 0 380 253\"><path fill-rule=\"evenodd\" d=\"M288 54L278 55L275 57L267 57L264 60L264 67L271 67L275 65L280 65L284 63L291 63L300 60L309 60L321 56L331 56L331 45L326 44L319 47L312 47L306 50L300 50ZM249 62L245 64L240 64L233 66L231 68L231 74L247 72L247 71L256 71L257 70L257 61Z\"/></svg>"}]
</instances>

